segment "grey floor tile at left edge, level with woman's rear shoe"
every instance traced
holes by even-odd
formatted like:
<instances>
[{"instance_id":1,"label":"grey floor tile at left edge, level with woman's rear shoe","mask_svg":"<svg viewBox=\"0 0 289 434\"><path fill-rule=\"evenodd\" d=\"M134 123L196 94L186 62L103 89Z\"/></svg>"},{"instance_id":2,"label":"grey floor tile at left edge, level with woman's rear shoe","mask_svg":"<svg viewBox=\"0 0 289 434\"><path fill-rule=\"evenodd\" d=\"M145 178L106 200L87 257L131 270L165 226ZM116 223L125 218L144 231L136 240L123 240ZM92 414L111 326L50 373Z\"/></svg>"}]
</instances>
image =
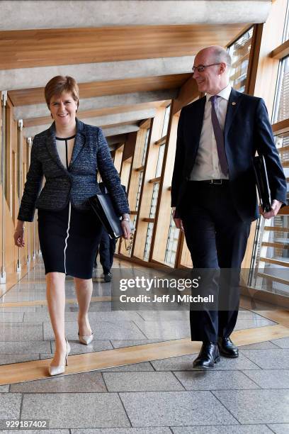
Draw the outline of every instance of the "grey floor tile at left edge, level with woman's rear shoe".
<instances>
[{"instance_id":1,"label":"grey floor tile at left edge, level with woman's rear shoe","mask_svg":"<svg viewBox=\"0 0 289 434\"><path fill-rule=\"evenodd\" d=\"M0 341L43 340L42 326L31 323L0 323Z\"/></svg>"}]
</instances>

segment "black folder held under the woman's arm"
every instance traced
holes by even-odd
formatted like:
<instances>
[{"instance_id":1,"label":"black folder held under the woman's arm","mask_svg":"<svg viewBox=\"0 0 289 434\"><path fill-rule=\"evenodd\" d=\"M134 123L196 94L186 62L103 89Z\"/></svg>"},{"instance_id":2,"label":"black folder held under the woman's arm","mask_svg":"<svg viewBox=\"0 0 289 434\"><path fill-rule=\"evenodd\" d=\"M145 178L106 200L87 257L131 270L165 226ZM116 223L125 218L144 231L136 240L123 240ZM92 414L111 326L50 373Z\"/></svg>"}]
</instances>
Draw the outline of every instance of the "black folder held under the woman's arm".
<instances>
[{"instance_id":1,"label":"black folder held under the woman's arm","mask_svg":"<svg viewBox=\"0 0 289 434\"><path fill-rule=\"evenodd\" d=\"M109 194L96 194L89 198L91 208L98 216L99 220L106 228L111 238L117 239L123 236L123 228L120 224L120 218L115 213L111 196ZM135 230L131 223L131 230Z\"/></svg>"}]
</instances>

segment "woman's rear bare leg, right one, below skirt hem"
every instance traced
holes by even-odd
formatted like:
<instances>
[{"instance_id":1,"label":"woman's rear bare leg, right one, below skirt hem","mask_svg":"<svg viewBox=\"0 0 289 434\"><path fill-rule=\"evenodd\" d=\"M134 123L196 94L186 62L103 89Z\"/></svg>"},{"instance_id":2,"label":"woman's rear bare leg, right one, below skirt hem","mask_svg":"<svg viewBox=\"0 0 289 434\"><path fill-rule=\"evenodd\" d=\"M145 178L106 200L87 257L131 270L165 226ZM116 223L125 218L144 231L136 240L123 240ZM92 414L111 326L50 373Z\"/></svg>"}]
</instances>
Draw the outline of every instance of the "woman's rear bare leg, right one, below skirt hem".
<instances>
[{"instance_id":1,"label":"woman's rear bare leg, right one, below skirt hem","mask_svg":"<svg viewBox=\"0 0 289 434\"><path fill-rule=\"evenodd\" d=\"M79 279L74 277L75 289L77 291L77 301L79 304L79 335L91 335L91 327L89 325L89 304L92 295L92 279Z\"/></svg>"}]
</instances>

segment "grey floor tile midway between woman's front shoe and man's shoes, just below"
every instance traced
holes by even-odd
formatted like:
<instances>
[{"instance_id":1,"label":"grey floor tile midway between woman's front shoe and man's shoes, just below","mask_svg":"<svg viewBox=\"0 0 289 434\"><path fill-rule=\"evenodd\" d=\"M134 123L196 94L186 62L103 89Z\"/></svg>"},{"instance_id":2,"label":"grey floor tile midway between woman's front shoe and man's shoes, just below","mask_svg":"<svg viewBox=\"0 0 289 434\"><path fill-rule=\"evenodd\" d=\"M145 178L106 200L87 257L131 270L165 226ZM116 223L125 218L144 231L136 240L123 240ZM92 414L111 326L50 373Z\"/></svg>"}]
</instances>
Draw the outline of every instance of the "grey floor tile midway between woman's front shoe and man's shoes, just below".
<instances>
[{"instance_id":1,"label":"grey floor tile midway between woman's front shoe and man's shoes, just below","mask_svg":"<svg viewBox=\"0 0 289 434\"><path fill-rule=\"evenodd\" d=\"M108 391L184 390L171 372L103 372Z\"/></svg>"}]
</instances>

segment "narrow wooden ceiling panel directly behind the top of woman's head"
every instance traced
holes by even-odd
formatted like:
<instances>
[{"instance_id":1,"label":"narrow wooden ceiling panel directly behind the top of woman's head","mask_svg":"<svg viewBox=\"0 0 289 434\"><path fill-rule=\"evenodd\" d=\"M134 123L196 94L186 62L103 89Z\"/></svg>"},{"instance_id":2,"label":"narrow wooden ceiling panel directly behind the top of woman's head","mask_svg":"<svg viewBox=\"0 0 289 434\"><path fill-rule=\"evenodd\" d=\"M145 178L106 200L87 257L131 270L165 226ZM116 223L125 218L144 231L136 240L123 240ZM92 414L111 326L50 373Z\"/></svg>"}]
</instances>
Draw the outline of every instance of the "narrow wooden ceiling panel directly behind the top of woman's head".
<instances>
[{"instance_id":1,"label":"narrow wooden ceiling panel directly behind the top of woman's head","mask_svg":"<svg viewBox=\"0 0 289 434\"><path fill-rule=\"evenodd\" d=\"M157 77L111 80L105 82L79 83L81 99L104 95L130 94L133 92L176 89L185 83L191 74L172 74ZM45 104L44 88L8 91L13 106Z\"/></svg>"}]
</instances>

